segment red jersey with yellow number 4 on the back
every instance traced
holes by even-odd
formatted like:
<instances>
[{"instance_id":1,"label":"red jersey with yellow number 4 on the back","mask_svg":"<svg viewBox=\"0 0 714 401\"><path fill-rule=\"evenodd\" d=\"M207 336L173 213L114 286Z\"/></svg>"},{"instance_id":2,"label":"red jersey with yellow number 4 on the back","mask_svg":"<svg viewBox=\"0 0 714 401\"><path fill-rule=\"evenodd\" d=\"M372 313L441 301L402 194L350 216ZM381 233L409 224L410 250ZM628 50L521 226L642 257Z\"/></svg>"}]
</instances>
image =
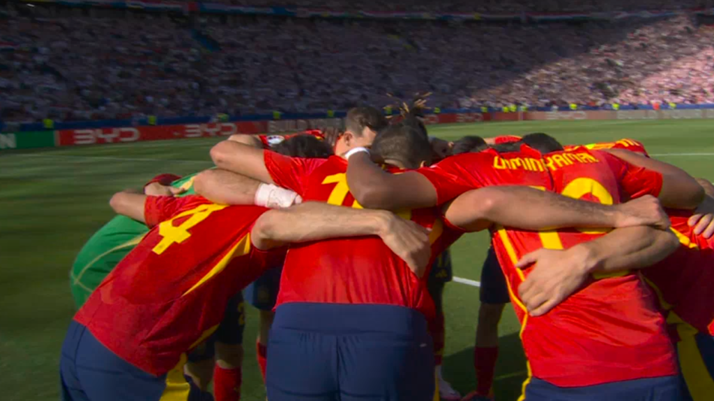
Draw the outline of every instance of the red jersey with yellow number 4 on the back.
<instances>
[{"instance_id":1,"label":"red jersey with yellow number 4 on the back","mask_svg":"<svg viewBox=\"0 0 714 401\"><path fill-rule=\"evenodd\" d=\"M276 265L279 252L251 245L250 230L266 210L149 196L153 228L74 320L122 359L163 375L216 330L228 299Z\"/></svg>"}]
</instances>

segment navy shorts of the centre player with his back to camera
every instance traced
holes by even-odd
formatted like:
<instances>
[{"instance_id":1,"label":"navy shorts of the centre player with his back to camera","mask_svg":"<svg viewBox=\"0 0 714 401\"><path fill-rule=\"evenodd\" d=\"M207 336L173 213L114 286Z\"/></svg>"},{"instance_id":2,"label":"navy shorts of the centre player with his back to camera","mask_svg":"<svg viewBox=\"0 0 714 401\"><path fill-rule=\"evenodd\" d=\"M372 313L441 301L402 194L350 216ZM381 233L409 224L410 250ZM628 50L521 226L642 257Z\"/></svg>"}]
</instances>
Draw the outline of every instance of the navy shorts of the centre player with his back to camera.
<instances>
[{"instance_id":1,"label":"navy shorts of the centre player with his back to camera","mask_svg":"<svg viewBox=\"0 0 714 401\"><path fill-rule=\"evenodd\" d=\"M431 401L426 318L393 305L288 303L268 340L270 401Z\"/></svg>"}]
</instances>

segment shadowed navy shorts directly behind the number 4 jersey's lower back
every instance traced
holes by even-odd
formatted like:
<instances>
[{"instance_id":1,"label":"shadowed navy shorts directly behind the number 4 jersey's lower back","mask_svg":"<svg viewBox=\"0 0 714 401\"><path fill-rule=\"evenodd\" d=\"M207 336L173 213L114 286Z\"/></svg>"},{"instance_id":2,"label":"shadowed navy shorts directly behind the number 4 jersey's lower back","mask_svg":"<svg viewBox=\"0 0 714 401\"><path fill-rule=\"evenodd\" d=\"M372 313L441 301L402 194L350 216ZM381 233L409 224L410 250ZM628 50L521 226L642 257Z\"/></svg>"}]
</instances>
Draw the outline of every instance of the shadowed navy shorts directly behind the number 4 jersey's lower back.
<instances>
[{"instance_id":1,"label":"shadowed navy shorts directly behind the number 4 jersey's lower back","mask_svg":"<svg viewBox=\"0 0 714 401\"><path fill-rule=\"evenodd\" d=\"M223 313L223 320L218 325L216 333L213 333L211 337L208 337L208 340L188 353L188 362L212 360L216 355L216 341L230 345L241 344L245 328L246 305L243 303L243 294L238 293L231 300L228 300L226 311Z\"/></svg>"}]
</instances>

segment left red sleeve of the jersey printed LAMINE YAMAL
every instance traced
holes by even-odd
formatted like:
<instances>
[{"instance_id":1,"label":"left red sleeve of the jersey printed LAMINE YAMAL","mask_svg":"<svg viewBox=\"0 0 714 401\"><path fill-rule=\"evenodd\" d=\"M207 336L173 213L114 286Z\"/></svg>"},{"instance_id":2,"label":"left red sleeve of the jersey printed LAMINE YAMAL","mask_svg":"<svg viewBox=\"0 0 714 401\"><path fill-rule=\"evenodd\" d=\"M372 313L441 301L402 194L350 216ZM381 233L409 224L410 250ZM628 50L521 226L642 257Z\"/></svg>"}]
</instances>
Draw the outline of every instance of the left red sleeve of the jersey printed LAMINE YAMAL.
<instances>
[{"instance_id":1,"label":"left red sleeve of the jersey printed LAMINE YAMAL","mask_svg":"<svg viewBox=\"0 0 714 401\"><path fill-rule=\"evenodd\" d=\"M437 205L443 205L466 191L483 186L469 179L471 174L465 171L462 163L465 158L473 157L475 154L464 153L463 155L451 156L433 166L416 170L417 173L426 177L436 189Z\"/></svg>"}]
</instances>

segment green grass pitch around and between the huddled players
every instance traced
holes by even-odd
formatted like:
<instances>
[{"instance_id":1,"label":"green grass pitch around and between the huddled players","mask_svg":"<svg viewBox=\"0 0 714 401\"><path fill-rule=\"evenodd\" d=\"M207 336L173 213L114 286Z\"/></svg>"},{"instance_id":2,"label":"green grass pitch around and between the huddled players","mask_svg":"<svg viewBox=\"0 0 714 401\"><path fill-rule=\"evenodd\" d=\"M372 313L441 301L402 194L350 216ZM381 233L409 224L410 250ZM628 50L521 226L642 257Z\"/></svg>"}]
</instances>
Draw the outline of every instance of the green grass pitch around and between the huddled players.
<instances>
[{"instance_id":1,"label":"green grass pitch around and between the huddled players","mask_svg":"<svg viewBox=\"0 0 714 401\"><path fill-rule=\"evenodd\" d=\"M653 156L714 180L714 121L543 121L432 126L456 139L547 132L563 143L634 138ZM69 268L76 253L111 218L112 193L158 173L211 167L217 139L186 139L0 153L0 388L2 400L59 399L58 360L74 313ZM454 274L479 280L488 236L468 235L453 247ZM463 393L473 389L473 340L478 288L446 287L444 375ZM255 361L256 310L248 308L243 400L265 399ZM518 322L508 307L501 321L496 371L499 401L516 400L526 377Z\"/></svg>"}]
</instances>

